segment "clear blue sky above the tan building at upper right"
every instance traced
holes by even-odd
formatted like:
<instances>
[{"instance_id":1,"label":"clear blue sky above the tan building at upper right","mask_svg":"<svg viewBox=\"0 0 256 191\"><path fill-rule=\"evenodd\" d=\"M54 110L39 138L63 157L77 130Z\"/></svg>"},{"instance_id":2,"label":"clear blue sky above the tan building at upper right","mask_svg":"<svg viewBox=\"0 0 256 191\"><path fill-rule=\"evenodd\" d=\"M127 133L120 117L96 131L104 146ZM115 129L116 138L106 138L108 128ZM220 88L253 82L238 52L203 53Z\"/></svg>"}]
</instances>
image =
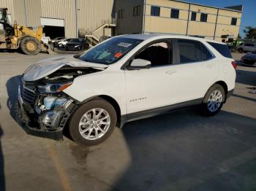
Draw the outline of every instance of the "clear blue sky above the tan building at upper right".
<instances>
[{"instance_id":1,"label":"clear blue sky above the tan building at upper right","mask_svg":"<svg viewBox=\"0 0 256 191\"><path fill-rule=\"evenodd\" d=\"M241 19L240 36L244 37L244 28L252 26L256 28L256 0L183 0L197 4L205 4L213 7L229 7L243 4L244 10Z\"/></svg>"}]
</instances>

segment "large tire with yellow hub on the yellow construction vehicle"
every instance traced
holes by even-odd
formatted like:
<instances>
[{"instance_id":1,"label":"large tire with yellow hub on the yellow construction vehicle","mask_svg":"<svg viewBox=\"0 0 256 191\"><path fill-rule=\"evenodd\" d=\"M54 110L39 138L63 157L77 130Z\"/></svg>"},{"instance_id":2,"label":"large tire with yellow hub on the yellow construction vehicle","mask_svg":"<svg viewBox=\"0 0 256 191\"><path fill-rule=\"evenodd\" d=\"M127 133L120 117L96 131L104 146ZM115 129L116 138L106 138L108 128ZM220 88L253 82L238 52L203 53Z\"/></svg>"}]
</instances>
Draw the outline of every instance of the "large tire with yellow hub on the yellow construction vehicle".
<instances>
[{"instance_id":1,"label":"large tire with yellow hub on the yellow construction vehicle","mask_svg":"<svg viewBox=\"0 0 256 191\"><path fill-rule=\"evenodd\" d=\"M41 50L41 44L36 38L26 36L20 41L20 50L26 55L37 55Z\"/></svg>"}]
</instances>

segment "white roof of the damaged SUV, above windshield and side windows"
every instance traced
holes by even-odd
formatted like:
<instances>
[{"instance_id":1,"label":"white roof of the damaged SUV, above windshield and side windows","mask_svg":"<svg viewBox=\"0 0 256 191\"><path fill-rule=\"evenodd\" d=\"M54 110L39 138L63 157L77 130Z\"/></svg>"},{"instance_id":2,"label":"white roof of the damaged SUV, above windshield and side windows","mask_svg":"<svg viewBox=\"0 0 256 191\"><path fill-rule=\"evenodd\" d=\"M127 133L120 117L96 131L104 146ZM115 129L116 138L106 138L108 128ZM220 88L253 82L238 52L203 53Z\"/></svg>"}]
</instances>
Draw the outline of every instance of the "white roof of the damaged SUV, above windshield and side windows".
<instances>
[{"instance_id":1,"label":"white roof of the damaged SUV, above windshield and side windows","mask_svg":"<svg viewBox=\"0 0 256 191\"><path fill-rule=\"evenodd\" d=\"M173 35L173 34L124 34L117 37L124 37L124 38L130 38L130 39L141 39L141 40L147 40L147 39L165 39L165 38L173 38L173 39L192 39L197 40L200 42L214 42L218 44L225 44L224 42L217 42L212 39L203 39L200 37L195 36L183 36L183 35Z\"/></svg>"}]
</instances>

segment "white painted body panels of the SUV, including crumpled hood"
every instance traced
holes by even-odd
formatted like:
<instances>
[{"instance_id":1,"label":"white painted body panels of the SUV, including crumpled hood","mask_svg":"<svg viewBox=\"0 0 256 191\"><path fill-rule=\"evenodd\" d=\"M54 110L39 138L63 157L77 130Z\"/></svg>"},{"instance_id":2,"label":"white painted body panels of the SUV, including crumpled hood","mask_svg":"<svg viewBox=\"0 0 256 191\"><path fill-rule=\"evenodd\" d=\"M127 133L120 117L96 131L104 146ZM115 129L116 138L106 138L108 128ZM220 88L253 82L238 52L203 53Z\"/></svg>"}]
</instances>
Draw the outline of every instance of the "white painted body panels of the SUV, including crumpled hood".
<instances>
[{"instance_id":1,"label":"white painted body panels of the SUV, including crumpled hood","mask_svg":"<svg viewBox=\"0 0 256 191\"><path fill-rule=\"evenodd\" d=\"M87 63L70 57L51 58L48 61L42 61L37 66L32 66L25 72L24 79L37 80L65 65L105 67L103 71L76 77L64 93L78 101L85 101L97 95L108 95L117 101L122 115L203 98L208 88L220 80L227 84L228 90L235 87L236 71L231 65L233 59L223 57L206 42L215 42L213 40L153 34L125 35L114 38L119 37L143 39L144 41L124 55L120 61L109 66ZM132 71L121 69L121 66L141 47L154 40L167 38L194 39L202 42L213 52L215 58L210 61L151 67L150 69Z\"/></svg>"}]
</instances>

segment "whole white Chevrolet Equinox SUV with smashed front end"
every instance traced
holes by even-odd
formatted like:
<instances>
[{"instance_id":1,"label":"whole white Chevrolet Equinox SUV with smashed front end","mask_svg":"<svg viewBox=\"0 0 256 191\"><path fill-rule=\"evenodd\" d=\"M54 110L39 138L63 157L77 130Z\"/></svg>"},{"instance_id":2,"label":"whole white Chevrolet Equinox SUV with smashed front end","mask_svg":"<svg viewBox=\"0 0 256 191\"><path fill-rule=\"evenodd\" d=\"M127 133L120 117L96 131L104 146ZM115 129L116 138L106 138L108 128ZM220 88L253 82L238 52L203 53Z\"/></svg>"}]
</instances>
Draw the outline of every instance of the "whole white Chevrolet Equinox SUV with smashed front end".
<instances>
[{"instance_id":1,"label":"whole white Chevrolet Equinox SUV with smashed front end","mask_svg":"<svg viewBox=\"0 0 256 191\"><path fill-rule=\"evenodd\" d=\"M217 114L233 92L227 45L189 36L135 34L75 56L46 59L23 74L18 101L29 133L99 144L125 122L201 104Z\"/></svg>"}]
</instances>

